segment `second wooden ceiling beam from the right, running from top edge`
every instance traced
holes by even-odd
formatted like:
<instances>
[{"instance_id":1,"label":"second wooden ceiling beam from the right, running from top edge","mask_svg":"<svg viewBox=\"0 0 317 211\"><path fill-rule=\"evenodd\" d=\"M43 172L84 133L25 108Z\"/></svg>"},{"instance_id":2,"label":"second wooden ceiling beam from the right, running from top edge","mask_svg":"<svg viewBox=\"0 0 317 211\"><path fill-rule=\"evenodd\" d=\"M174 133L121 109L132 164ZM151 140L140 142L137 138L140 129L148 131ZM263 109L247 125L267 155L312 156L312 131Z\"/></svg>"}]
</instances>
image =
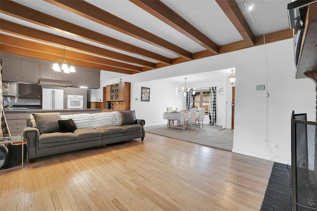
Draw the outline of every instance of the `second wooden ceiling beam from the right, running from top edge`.
<instances>
[{"instance_id":1,"label":"second wooden ceiling beam from the right, running from top edge","mask_svg":"<svg viewBox=\"0 0 317 211\"><path fill-rule=\"evenodd\" d=\"M214 54L218 54L219 46L211 41L206 35L188 23L184 18L166 6L159 0L130 0L140 8L157 17L164 23L173 27L191 40L199 43L207 50Z\"/></svg>"}]
</instances>

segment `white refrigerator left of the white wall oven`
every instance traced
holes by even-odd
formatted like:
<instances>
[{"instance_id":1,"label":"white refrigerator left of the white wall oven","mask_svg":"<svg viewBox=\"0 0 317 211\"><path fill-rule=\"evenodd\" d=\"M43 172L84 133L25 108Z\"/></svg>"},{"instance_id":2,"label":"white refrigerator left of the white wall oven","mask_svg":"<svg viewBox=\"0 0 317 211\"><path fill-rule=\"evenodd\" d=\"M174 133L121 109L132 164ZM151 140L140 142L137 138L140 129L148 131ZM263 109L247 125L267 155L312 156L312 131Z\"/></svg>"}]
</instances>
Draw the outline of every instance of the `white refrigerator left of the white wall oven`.
<instances>
[{"instance_id":1,"label":"white refrigerator left of the white wall oven","mask_svg":"<svg viewBox=\"0 0 317 211\"><path fill-rule=\"evenodd\" d=\"M63 88L42 88L42 109L63 109Z\"/></svg>"}]
</instances>

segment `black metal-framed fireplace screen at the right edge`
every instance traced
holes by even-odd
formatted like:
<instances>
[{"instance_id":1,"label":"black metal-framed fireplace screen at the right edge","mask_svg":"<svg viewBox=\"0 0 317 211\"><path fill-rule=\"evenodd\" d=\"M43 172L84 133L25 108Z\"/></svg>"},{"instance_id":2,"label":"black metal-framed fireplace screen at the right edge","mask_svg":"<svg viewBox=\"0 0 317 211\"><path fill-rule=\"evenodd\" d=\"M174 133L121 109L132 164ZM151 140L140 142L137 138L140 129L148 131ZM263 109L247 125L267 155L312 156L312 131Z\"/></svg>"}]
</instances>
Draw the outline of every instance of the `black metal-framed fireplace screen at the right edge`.
<instances>
[{"instance_id":1,"label":"black metal-framed fireplace screen at the right edge","mask_svg":"<svg viewBox=\"0 0 317 211\"><path fill-rule=\"evenodd\" d=\"M292 117L292 210L317 210L317 123Z\"/></svg>"}]
</instances>

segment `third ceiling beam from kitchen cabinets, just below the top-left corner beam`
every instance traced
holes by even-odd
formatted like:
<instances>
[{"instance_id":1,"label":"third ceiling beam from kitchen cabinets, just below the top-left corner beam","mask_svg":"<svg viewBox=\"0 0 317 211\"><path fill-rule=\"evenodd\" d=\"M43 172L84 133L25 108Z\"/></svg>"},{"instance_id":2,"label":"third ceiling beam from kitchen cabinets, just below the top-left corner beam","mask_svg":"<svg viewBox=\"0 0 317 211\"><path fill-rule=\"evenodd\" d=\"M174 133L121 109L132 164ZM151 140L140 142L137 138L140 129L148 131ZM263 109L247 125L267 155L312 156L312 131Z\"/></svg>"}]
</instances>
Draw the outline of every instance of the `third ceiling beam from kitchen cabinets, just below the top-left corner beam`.
<instances>
[{"instance_id":1,"label":"third ceiling beam from kitchen cabinets, just below the top-left corner beam","mask_svg":"<svg viewBox=\"0 0 317 211\"><path fill-rule=\"evenodd\" d=\"M27 37L34 40L49 42L53 44L58 44L61 46L71 47L77 50L85 51L88 53L97 54L100 56L116 59L119 61L125 61L132 64L137 64L141 66L145 66L151 69L156 67L155 63L148 62L139 58L135 58L133 56L128 56L122 53L114 52L111 50L107 50L105 48L97 47L94 45L86 44L83 42L78 42L74 40L70 40L67 38L63 38L57 35L53 35L47 32L43 32L40 30L32 29L26 26L22 26L16 23L12 23L3 19L0 19L0 31L12 33L15 35Z\"/></svg>"}]
</instances>

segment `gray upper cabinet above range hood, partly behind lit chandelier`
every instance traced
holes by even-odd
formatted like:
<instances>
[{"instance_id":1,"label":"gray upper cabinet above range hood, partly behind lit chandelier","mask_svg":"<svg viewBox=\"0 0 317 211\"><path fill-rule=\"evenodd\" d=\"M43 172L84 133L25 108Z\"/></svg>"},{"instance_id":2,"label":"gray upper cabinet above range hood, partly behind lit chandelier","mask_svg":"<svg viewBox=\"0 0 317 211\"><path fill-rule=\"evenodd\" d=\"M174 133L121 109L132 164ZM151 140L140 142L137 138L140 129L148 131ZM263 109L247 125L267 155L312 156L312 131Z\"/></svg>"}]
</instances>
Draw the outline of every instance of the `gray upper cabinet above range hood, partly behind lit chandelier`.
<instances>
[{"instance_id":1,"label":"gray upper cabinet above range hood, partly behind lit chandelier","mask_svg":"<svg viewBox=\"0 0 317 211\"><path fill-rule=\"evenodd\" d=\"M55 72L53 71L52 67L53 67L53 63L52 64L41 63L40 78L70 81L70 73Z\"/></svg>"}]
</instances>

